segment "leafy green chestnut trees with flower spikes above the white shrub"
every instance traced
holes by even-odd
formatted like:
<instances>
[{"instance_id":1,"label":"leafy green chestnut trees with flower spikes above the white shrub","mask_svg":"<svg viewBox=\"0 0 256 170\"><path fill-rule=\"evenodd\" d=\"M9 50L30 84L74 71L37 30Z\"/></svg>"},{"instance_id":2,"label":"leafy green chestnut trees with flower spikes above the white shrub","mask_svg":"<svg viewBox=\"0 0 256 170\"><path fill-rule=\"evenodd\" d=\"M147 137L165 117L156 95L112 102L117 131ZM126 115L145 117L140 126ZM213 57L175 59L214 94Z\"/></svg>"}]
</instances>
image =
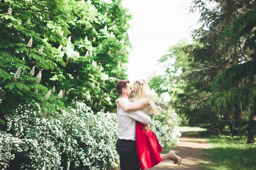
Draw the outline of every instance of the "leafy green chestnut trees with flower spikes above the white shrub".
<instances>
[{"instance_id":1,"label":"leafy green chestnut trees with flower spikes above the white shrub","mask_svg":"<svg viewBox=\"0 0 256 170\"><path fill-rule=\"evenodd\" d=\"M131 15L118 0L3 0L0 17L1 118L31 100L66 111L64 104L83 100L112 111L130 48Z\"/></svg>"}]
</instances>

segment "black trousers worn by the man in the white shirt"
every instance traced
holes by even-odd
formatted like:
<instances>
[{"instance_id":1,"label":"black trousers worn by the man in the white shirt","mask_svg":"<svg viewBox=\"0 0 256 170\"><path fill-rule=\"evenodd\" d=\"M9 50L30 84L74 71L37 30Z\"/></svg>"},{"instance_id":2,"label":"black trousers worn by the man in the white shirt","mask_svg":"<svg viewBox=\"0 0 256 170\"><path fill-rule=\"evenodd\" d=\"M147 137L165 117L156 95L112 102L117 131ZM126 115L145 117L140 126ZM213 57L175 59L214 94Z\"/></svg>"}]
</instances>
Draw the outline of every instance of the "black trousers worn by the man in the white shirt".
<instances>
[{"instance_id":1,"label":"black trousers worn by the man in the white shirt","mask_svg":"<svg viewBox=\"0 0 256 170\"><path fill-rule=\"evenodd\" d=\"M118 139L116 150L119 154L121 170L140 170L136 141Z\"/></svg>"}]
</instances>

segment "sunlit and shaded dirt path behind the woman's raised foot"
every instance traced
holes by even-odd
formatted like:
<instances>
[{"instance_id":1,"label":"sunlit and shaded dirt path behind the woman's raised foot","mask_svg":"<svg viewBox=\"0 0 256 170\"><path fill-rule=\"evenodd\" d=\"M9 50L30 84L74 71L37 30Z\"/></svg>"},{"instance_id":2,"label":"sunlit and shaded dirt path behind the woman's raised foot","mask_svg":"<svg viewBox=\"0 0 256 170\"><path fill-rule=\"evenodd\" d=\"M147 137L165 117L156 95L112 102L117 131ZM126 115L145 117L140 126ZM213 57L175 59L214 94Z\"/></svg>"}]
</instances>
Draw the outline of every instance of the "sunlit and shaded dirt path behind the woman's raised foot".
<instances>
[{"instance_id":1,"label":"sunlit and shaded dirt path behind the woman's raised foot","mask_svg":"<svg viewBox=\"0 0 256 170\"><path fill-rule=\"evenodd\" d=\"M148 170L202 170L200 162L204 161L204 149L209 148L206 140L200 139L195 132L181 131L180 142L172 150L180 150L177 153L182 158L181 165L173 164L173 161L165 160Z\"/></svg>"}]
</instances>

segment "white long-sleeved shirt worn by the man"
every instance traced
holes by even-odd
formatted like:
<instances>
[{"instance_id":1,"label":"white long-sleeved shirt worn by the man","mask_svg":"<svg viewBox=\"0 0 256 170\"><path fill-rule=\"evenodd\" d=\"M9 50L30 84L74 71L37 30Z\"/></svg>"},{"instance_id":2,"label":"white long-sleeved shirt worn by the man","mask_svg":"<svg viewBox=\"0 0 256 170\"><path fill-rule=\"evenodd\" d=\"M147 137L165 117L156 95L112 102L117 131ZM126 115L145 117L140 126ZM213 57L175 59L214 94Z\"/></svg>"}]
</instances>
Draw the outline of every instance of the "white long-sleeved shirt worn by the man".
<instances>
[{"instance_id":1,"label":"white long-sleeved shirt worn by the man","mask_svg":"<svg viewBox=\"0 0 256 170\"><path fill-rule=\"evenodd\" d=\"M120 99L124 102L132 103L124 97ZM136 121L143 124L151 123L151 117L142 111L125 112L122 108L117 111L117 120L119 125L118 138L133 141L136 141Z\"/></svg>"}]
</instances>

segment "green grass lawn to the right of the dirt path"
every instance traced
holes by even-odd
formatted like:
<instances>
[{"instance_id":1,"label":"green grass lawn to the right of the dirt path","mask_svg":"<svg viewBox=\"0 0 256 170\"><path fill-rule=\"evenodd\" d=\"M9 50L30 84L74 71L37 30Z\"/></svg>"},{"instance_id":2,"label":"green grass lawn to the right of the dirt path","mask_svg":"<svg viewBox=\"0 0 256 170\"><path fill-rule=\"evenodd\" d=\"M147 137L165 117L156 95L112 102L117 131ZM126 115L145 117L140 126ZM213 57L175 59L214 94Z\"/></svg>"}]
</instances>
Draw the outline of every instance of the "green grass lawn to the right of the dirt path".
<instances>
[{"instance_id":1,"label":"green grass lawn to the right of the dirt path","mask_svg":"<svg viewBox=\"0 0 256 170\"><path fill-rule=\"evenodd\" d=\"M211 147L205 152L204 170L256 170L256 144L246 137L206 136Z\"/></svg>"}]
</instances>

